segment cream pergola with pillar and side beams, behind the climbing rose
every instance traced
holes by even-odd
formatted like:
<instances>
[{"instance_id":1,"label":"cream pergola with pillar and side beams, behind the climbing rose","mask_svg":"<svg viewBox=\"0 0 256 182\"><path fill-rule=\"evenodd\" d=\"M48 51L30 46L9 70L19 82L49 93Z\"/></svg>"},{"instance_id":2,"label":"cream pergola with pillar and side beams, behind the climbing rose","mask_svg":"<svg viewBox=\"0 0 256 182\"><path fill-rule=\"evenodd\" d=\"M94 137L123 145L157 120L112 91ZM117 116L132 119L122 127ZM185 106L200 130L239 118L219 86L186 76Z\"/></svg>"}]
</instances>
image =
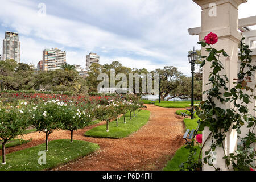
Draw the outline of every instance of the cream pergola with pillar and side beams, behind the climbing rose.
<instances>
[{"instance_id":1,"label":"cream pergola with pillar and side beams, behind the climbing rose","mask_svg":"<svg viewBox=\"0 0 256 182\"><path fill-rule=\"evenodd\" d=\"M202 9L201 12L201 27L189 28L188 32L190 35L198 35L199 40L203 41L204 37L213 32L218 35L218 42L214 44L213 47L217 50L224 49L229 57L221 57L221 62L224 65L224 69L221 74L225 74L229 80L233 80L233 78L237 78L238 68L240 67L238 63L238 46L241 40L241 34L238 30L243 31L243 36L245 36L245 43L249 45L251 51L251 55L253 56L253 63L256 65L256 30L253 30L250 26L256 25L256 16L251 16L249 18L238 19L238 7L241 3L246 3L247 0L193 0L193 2L197 3ZM216 8L216 15L210 15L210 12L214 8ZM202 48L202 56L208 56L208 52L205 51L205 48ZM206 85L209 82L209 75L212 68L210 68L210 63L205 63L203 68L203 91L208 90L210 85ZM247 86L251 86L253 88L256 85L255 73L254 77L251 78L251 81ZM234 86L232 82L229 82L226 85L229 89ZM249 92L248 92L249 93ZM249 93L251 94L251 93ZM254 92L255 96L255 92ZM206 100L207 96L203 94L203 100ZM251 115L255 115L255 100L252 98L251 102L247 105L249 112ZM241 102L242 101L238 101ZM226 103L222 104L220 102L216 102L216 106L221 109L229 109L232 107L232 104ZM248 129L244 125L241 129L241 137L245 137ZM256 130L254 130L254 133ZM210 134L208 127L205 127L203 131L203 142L207 139L207 136ZM230 153L234 153L237 149L237 144L240 142L237 139L236 130L230 127L229 131L225 133L226 139L223 148L216 148L216 156L214 156L214 166L220 168L225 171L228 170L228 167L225 164L225 160L223 159L224 151L226 155ZM205 147L203 149L203 158L205 151L208 151L210 148L208 143L205 143ZM203 163L203 170L214 170L213 167L208 164Z\"/></svg>"}]
</instances>

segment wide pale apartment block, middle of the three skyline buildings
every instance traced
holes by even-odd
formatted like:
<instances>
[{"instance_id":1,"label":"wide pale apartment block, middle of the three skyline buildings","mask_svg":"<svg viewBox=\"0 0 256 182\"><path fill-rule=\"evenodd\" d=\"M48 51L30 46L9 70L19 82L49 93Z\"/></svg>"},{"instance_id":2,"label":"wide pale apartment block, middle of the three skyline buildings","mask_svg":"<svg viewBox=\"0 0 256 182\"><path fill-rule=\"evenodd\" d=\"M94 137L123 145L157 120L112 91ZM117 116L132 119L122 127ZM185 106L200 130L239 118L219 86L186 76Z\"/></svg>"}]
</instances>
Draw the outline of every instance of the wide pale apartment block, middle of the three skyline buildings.
<instances>
[{"instance_id":1,"label":"wide pale apartment block, middle of the three skyline buildings","mask_svg":"<svg viewBox=\"0 0 256 182\"><path fill-rule=\"evenodd\" d=\"M58 48L44 49L43 51L43 71L53 71L60 69L60 65L66 63L66 51Z\"/></svg>"}]
</instances>

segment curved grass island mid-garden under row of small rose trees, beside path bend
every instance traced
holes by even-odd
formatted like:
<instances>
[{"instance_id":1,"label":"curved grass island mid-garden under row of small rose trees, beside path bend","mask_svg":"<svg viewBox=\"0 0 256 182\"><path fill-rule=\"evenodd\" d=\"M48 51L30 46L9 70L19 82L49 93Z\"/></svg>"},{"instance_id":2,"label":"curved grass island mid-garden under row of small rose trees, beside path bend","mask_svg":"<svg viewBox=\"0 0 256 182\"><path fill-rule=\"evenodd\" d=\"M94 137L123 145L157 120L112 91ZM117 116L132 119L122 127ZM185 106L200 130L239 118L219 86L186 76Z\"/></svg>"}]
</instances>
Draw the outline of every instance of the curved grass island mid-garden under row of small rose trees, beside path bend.
<instances>
[{"instance_id":1,"label":"curved grass island mid-garden under row of small rose trees, beside path bend","mask_svg":"<svg viewBox=\"0 0 256 182\"><path fill-rule=\"evenodd\" d=\"M88 137L101 137L101 138L123 138L128 137L130 134L139 130L143 125L148 122L150 118L150 111L141 110L138 115L130 120L130 112L126 113L126 124L123 122L123 116L118 120L119 127L116 121L109 123L109 132L106 132L106 125L101 125L93 128L85 133Z\"/></svg>"}]
</instances>

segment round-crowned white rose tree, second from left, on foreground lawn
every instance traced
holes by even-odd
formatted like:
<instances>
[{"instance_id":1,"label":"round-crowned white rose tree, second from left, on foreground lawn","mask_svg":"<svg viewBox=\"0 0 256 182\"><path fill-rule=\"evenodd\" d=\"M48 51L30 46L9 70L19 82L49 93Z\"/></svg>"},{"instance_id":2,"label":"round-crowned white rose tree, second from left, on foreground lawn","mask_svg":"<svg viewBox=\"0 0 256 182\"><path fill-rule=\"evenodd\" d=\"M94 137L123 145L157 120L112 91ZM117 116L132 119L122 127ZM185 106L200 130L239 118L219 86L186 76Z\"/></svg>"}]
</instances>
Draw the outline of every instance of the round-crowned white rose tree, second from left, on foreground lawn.
<instances>
[{"instance_id":1,"label":"round-crowned white rose tree, second from left, on foreground lawn","mask_svg":"<svg viewBox=\"0 0 256 182\"><path fill-rule=\"evenodd\" d=\"M46 151L48 151L49 135L60 127L63 118L62 105L67 104L52 100L32 106L31 122L37 131L46 133Z\"/></svg>"}]
</instances>

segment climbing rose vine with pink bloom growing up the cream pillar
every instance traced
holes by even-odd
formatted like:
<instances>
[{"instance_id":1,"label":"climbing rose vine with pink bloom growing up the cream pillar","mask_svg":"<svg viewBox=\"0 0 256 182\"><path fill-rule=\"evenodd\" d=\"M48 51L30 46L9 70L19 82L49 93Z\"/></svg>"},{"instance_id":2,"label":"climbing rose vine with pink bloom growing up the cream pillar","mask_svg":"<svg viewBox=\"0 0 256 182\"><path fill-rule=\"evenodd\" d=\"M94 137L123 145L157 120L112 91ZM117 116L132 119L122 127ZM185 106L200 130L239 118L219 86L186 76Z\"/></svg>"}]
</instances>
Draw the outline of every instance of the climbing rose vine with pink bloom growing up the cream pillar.
<instances>
[{"instance_id":1,"label":"climbing rose vine with pink bloom growing up the cream pillar","mask_svg":"<svg viewBox=\"0 0 256 182\"><path fill-rule=\"evenodd\" d=\"M256 70L256 67L251 65L251 50L249 46L243 43L245 39L242 36L240 43L240 70L238 71L237 78L233 79L233 88L228 88L226 85L230 80L228 77L223 74L224 67L220 61L222 56L228 59L229 55L224 51L224 49L217 51L212 48L211 45L217 42L217 35L210 33L205 37L205 42L198 42L202 47L208 46L205 48L209 52L208 56L201 56L203 62L200 67L204 67L205 63L208 61L211 63L212 71L209 75L210 89L204 91L203 94L206 94L207 99L202 101L199 107L195 106L196 114L199 116L199 131L203 131L205 127L208 127L210 133L207 138L204 140L200 151L197 151L195 148L195 141L192 140L188 143L186 148L189 148L190 154L187 162L181 164L182 170L200 170L202 167L201 161L201 152L205 147L205 143L210 143L210 148L208 151L205 151L205 157L203 162L212 166L216 170L220 170L213 164L212 152L216 150L217 147L221 147L224 151L224 159L226 162L226 167L230 170L233 167L234 170L252 170L255 169L255 160L256 153L254 147L251 144L256 142L255 134L253 133L256 126L255 117L249 113L247 105L251 100L255 99L254 90L251 86L248 86L251 82L251 76ZM246 92L245 92L246 90ZM250 94L249 94L250 93ZM225 104L228 103L230 108L222 109L218 107L218 103ZM238 148L234 154L226 155L224 150L224 142L226 133L230 128L235 129L238 134L241 134L241 127L247 125L249 129L245 138L240 138L241 143L238 144ZM198 160L195 159L195 154L199 152ZM232 166L231 166L232 165Z\"/></svg>"}]
</instances>

